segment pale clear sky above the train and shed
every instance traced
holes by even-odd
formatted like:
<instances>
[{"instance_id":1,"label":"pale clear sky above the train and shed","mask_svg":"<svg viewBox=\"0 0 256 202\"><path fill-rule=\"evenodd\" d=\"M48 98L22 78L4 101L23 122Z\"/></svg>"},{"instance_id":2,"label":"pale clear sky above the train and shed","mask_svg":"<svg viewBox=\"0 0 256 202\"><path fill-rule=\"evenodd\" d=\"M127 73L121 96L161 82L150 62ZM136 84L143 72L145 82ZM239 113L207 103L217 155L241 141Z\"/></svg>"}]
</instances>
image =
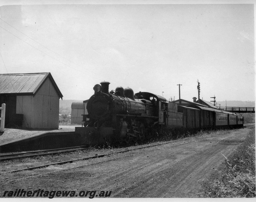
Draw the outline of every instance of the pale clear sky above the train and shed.
<instances>
[{"instance_id":1,"label":"pale clear sky above the train and shed","mask_svg":"<svg viewBox=\"0 0 256 202\"><path fill-rule=\"evenodd\" d=\"M215 2L2 0L0 74L51 72L64 100L108 81L193 101L199 81L203 100L255 101L253 1Z\"/></svg>"}]
</instances>

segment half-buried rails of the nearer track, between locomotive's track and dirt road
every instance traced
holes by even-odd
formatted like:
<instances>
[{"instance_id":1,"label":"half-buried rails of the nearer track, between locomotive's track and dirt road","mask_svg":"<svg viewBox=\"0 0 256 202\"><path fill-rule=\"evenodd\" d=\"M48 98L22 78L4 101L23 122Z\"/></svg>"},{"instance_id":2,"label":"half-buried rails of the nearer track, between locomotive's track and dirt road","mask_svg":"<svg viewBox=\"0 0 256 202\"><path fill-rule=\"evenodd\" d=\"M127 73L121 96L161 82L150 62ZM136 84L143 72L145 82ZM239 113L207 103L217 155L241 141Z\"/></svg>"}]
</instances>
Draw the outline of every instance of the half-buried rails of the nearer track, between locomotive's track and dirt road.
<instances>
[{"instance_id":1,"label":"half-buried rails of the nearer track, between locomotive's track and dirt road","mask_svg":"<svg viewBox=\"0 0 256 202\"><path fill-rule=\"evenodd\" d=\"M55 163L51 163L51 164L39 165L39 166L23 168L23 169L18 169L18 170L11 170L11 171L0 173L0 175L4 174L4 173L10 173L10 172L19 172L19 171L25 171L25 170L33 170L33 169L38 169L38 168L44 168L44 167L48 167L48 166L51 166L51 165L72 163L74 161L82 161L82 160L88 160L88 159L93 159L93 158L101 158L101 157L108 156L108 155L119 154L119 153L124 153L124 152L132 151L132 150L138 150L138 149L143 149L143 148L148 148L148 147L153 147L153 146L159 146L159 145L169 144L169 143L173 143L173 142L176 142L176 141L168 141L168 142L163 142L163 143L159 143L159 144L151 144L151 145L147 145L147 146L141 146L141 147L125 149L125 150L121 150L121 151L106 153L106 154L102 154L102 155L94 155L94 156L89 156L89 157L84 157L84 158L79 158L79 159L72 159L72 160L68 160L68 161L55 162ZM181 144L184 144L184 143L181 143ZM174 145L171 145L171 146L176 146L176 145L180 145L180 144L174 144ZM168 147L171 147L171 146L168 146ZM130 155L130 156L133 156L133 155ZM125 156L125 157L129 157L129 156ZM124 158L124 157L119 157L119 158ZM119 159L119 158L115 158L115 159ZM115 160L115 159L111 159L111 160ZM110 161L110 160L106 160L106 161ZM105 162L105 161L102 161L102 162ZM97 162L97 163L102 163L102 162ZM91 165L91 164L88 164L88 165ZM83 165L83 166L86 166L86 165ZM58 170L58 171L73 169L73 168L77 168L77 167L81 167L81 166L76 166L76 167L72 167L72 168L65 168L65 169ZM53 172L58 172L58 171L53 171ZM50 173L52 173L52 172L50 172ZM49 173L44 173L44 174L49 174ZM44 174L39 174L39 175L44 175ZM39 176L39 175L33 175L33 176ZM29 176L29 177L33 177L33 176ZM28 177L25 177L25 178L28 178ZM24 179L24 178L20 178L20 179ZM13 180L8 180L8 181L4 181L4 182L16 181L16 180L20 180L20 179L13 179ZM4 183L4 182L0 182L0 183Z\"/></svg>"}]
</instances>

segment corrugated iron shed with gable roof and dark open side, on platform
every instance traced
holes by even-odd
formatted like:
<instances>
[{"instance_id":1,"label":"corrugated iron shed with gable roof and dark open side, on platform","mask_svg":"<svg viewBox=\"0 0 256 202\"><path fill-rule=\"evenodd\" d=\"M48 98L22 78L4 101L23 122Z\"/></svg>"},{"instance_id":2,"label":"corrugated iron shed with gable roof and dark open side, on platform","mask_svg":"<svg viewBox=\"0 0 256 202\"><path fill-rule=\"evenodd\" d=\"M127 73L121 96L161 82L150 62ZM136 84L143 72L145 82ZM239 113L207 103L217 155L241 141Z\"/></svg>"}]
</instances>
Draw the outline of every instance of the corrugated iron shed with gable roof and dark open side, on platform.
<instances>
[{"instance_id":1,"label":"corrugated iron shed with gable roof and dark open side, on platform","mask_svg":"<svg viewBox=\"0 0 256 202\"><path fill-rule=\"evenodd\" d=\"M59 127L62 94L48 73L0 74L0 102L6 104L5 127Z\"/></svg>"}]
</instances>

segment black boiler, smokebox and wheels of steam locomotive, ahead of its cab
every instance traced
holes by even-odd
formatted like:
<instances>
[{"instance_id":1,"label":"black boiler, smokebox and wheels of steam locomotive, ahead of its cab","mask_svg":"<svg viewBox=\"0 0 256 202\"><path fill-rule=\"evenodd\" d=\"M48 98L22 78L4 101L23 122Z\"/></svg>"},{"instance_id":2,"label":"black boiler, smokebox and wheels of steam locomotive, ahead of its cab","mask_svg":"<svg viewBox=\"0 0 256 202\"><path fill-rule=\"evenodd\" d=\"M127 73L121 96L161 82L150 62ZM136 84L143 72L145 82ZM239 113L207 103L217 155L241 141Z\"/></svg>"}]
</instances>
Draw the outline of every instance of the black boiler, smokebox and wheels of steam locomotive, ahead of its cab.
<instances>
[{"instance_id":1,"label":"black boiler, smokebox and wheels of steam locomotive, ahead of its cab","mask_svg":"<svg viewBox=\"0 0 256 202\"><path fill-rule=\"evenodd\" d=\"M88 100L86 118L89 121L85 121L84 126L100 133L111 133L107 131L112 128L116 139L144 139L158 118L154 110L156 100L144 99L142 94L134 96L131 88L120 86L115 92L109 92L109 82L100 84L93 87L94 95Z\"/></svg>"}]
</instances>

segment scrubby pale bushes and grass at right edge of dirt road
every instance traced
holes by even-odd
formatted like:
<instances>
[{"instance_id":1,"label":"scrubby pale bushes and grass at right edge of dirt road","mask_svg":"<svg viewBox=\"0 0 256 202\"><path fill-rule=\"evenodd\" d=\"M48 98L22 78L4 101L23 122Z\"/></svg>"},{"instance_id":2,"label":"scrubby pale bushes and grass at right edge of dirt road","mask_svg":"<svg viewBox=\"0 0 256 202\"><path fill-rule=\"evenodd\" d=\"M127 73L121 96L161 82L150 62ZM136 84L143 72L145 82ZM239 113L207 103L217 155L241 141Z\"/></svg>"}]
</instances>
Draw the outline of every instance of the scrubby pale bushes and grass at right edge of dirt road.
<instances>
[{"instance_id":1,"label":"scrubby pale bushes and grass at right edge of dirt road","mask_svg":"<svg viewBox=\"0 0 256 202\"><path fill-rule=\"evenodd\" d=\"M203 197L231 198L255 197L255 131L251 130L236 151L225 157L225 169L221 180L210 184L203 182L206 188Z\"/></svg>"}]
</instances>

